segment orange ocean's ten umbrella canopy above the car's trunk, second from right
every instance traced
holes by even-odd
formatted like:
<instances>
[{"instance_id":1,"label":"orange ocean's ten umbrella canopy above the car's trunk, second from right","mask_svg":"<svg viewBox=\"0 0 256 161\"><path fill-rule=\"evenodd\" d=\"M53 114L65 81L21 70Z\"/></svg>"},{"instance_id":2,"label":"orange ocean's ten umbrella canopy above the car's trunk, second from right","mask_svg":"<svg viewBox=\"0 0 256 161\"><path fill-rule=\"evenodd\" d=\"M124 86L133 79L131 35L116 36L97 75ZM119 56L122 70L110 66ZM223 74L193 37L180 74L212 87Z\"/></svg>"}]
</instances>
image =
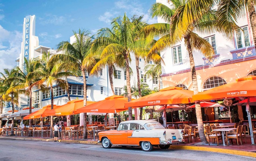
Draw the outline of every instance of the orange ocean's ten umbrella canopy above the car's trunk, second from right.
<instances>
[{"instance_id":1,"label":"orange ocean's ten umbrella canopy above the car's trunk, second from right","mask_svg":"<svg viewBox=\"0 0 256 161\"><path fill-rule=\"evenodd\" d=\"M192 99L193 94L193 91L182 90L180 87L167 87L156 93L125 103L125 107L191 103L194 102Z\"/></svg>"}]
</instances>

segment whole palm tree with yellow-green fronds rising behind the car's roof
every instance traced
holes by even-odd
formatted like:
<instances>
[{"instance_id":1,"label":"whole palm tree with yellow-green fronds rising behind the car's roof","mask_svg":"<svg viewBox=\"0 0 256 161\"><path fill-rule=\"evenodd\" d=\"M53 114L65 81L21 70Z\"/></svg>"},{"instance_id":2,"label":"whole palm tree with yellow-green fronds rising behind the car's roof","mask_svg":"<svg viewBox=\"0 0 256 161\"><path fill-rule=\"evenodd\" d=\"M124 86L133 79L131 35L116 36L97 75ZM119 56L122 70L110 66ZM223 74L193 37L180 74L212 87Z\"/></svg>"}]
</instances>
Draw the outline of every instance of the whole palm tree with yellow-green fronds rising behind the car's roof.
<instances>
[{"instance_id":1,"label":"whole palm tree with yellow-green fronds rising behind the car's roof","mask_svg":"<svg viewBox=\"0 0 256 161\"><path fill-rule=\"evenodd\" d=\"M134 24L124 13L123 17L119 16L112 20L112 29L102 28L92 45L92 53L103 48L100 58L105 58L106 62L113 62L116 57L124 59L128 101L132 100L129 73L130 52L138 47L135 46L138 35L134 34ZM132 120L132 107L128 108L128 113L129 120Z\"/></svg>"}]
</instances>

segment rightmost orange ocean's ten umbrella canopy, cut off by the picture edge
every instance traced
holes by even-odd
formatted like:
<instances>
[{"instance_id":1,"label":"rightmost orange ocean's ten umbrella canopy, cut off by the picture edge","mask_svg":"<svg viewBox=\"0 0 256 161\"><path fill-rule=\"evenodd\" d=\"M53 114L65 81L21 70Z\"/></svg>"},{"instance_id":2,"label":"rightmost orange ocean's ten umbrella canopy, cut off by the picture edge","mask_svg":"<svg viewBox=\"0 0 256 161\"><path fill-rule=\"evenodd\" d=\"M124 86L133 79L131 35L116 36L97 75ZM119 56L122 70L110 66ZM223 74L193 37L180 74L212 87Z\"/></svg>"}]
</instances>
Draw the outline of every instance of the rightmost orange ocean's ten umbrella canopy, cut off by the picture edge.
<instances>
[{"instance_id":1,"label":"rightmost orange ocean's ten umbrella canopy, cut off by the picture edge","mask_svg":"<svg viewBox=\"0 0 256 161\"><path fill-rule=\"evenodd\" d=\"M193 95L193 100L226 99L256 96L256 76L246 76Z\"/></svg>"}]
</instances>

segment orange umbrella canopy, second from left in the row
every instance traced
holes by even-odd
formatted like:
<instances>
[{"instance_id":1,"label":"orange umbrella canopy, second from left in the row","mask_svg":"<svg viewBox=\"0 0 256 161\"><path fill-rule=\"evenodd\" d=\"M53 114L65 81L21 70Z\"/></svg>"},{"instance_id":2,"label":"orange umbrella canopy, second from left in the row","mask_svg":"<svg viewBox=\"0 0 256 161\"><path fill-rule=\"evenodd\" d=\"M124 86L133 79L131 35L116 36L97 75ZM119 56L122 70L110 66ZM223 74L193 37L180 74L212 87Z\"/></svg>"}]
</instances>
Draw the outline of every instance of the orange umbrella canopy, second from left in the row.
<instances>
[{"instance_id":1,"label":"orange umbrella canopy, second from left in the row","mask_svg":"<svg viewBox=\"0 0 256 161\"><path fill-rule=\"evenodd\" d=\"M91 105L95 102L87 101L87 105ZM72 115L76 114L76 110L84 106L83 99L74 99L72 101L68 101L67 104L53 108L50 111L45 112L47 116L64 116L64 115Z\"/></svg>"}]
</instances>

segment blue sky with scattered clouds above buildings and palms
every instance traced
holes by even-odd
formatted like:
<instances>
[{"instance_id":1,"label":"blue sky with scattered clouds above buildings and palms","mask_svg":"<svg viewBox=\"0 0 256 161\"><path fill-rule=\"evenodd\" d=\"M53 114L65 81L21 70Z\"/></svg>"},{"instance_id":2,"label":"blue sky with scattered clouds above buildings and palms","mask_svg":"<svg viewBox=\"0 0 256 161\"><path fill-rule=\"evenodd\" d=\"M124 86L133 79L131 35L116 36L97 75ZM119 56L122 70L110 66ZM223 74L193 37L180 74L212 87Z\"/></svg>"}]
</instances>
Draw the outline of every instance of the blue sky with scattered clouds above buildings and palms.
<instances>
[{"instance_id":1,"label":"blue sky with scattered clouds above buildings and palms","mask_svg":"<svg viewBox=\"0 0 256 161\"><path fill-rule=\"evenodd\" d=\"M157 23L148 10L156 0L0 0L0 72L17 65L21 53L24 18L36 15L39 45L56 49L69 41L79 28L92 33L111 27L111 20L124 13L144 15L148 24Z\"/></svg>"}]
</instances>

